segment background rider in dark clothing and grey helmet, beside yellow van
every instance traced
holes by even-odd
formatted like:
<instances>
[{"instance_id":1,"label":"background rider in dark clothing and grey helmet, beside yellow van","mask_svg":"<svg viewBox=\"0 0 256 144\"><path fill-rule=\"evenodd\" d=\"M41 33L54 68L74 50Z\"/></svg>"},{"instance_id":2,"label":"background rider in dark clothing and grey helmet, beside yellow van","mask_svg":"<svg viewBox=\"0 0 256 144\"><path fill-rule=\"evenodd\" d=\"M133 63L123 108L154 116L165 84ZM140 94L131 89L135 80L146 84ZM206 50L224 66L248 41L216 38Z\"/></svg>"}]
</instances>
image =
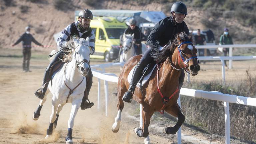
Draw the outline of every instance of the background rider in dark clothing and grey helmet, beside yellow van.
<instances>
[{"instance_id":1,"label":"background rider in dark clothing and grey helmet, beside yellow van","mask_svg":"<svg viewBox=\"0 0 256 144\"><path fill-rule=\"evenodd\" d=\"M135 19L130 19L129 24L130 26L124 31L124 34L134 34L133 42L134 42L134 49L136 55L142 54L141 50L141 30L138 26L136 26L137 21Z\"/></svg>"}]
</instances>

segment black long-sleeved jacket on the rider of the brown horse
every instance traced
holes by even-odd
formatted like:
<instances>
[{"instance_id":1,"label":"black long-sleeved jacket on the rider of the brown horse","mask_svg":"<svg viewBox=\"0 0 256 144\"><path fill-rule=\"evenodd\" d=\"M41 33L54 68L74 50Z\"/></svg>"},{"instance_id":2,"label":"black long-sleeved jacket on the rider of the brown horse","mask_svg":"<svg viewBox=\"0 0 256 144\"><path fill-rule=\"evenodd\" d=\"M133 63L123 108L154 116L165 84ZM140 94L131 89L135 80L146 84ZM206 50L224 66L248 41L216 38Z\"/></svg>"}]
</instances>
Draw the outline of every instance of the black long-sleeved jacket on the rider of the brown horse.
<instances>
[{"instance_id":1,"label":"black long-sleeved jacket on the rider of the brown horse","mask_svg":"<svg viewBox=\"0 0 256 144\"><path fill-rule=\"evenodd\" d=\"M181 32L189 35L186 23L183 21L179 24L172 17L166 17L159 21L152 29L147 39L147 45L158 52L160 47L168 44L170 40L172 42L176 35Z\"/></svg>"}]
</instances>

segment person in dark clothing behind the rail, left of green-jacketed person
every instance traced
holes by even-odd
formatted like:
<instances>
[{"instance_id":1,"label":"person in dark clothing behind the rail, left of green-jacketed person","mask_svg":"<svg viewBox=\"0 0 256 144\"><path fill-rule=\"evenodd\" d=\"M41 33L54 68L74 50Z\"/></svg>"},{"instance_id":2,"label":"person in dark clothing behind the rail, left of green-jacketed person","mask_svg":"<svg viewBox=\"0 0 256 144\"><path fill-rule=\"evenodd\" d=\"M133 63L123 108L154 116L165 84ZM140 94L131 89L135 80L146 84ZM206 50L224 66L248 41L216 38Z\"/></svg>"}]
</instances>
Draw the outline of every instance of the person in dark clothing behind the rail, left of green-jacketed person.
<instances>
[{"instance_id":1,"label":"person in dark clothing behind the rail, left of green-jacketed person","mask_svg":"<svg viewBox=\"0 0 256 144\"><path fill-rule=\"evenodd\" d=\"M194 35L194 45L204 45L205 36L201 34L200 29L197 29L197 35ZM198 49L199 56L207 56L207 49Z\"/></svg>"}]
</instances>

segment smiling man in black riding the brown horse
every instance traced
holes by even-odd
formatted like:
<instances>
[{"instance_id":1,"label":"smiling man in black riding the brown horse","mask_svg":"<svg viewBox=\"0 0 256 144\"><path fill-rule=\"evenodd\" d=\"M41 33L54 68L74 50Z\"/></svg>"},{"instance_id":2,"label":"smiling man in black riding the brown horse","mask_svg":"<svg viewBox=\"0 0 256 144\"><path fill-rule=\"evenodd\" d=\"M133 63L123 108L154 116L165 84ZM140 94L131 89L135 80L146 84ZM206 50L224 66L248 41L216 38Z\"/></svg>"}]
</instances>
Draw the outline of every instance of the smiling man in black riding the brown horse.
<instances>
[{"instance_id":1,"label":"smiling man in black riding the brown horse","mask_svg":"<svg viewBox=\"0 0 256 144\"><path fill-rule=\"evenodd\" d=\"M175 36L181 32L189 35L189 30L186 23L183 21L187 15L187 7L182 2L176 2L171 7L172 16L166 17L159 21L152 29L147 39L147 45L150 48L142 55L136 68L134 69L128 91L125 92L123 100L130 103L132 101L133 93L140 76L142 75L145 66L154 61L152 54L159 53L165 49L169 41L173 40ZM179 81L179 88L181 88L184 81L185 73L181 72Z\"/></svg>"}]
</instances>

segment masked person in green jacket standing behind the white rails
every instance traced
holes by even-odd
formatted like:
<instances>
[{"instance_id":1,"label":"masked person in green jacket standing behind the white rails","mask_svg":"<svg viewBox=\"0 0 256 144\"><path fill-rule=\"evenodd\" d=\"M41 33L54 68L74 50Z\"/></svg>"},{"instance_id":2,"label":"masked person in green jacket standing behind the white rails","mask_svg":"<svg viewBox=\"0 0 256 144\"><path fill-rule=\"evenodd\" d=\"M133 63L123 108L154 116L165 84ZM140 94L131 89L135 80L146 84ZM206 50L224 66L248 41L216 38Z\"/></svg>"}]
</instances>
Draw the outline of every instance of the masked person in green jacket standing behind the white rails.
<instances>
[{"instance_id":1,"label":"masked person in green jacket standing behind the white rails","mask_svg":"<svg viewBox=\"0 0 256 144\"><path fill-rule=\"evenodd\" d=\"M229 32L228 32L227 28L224 28L224 33L220 36L220 44L221 45L233 44L232 38L229 35ZM227 56L228 52L229 52L229 48L223 48L224 56ZM227 66L226 61L227 60L225 60L225 66Z\"/></svg>"}]
</instances>

